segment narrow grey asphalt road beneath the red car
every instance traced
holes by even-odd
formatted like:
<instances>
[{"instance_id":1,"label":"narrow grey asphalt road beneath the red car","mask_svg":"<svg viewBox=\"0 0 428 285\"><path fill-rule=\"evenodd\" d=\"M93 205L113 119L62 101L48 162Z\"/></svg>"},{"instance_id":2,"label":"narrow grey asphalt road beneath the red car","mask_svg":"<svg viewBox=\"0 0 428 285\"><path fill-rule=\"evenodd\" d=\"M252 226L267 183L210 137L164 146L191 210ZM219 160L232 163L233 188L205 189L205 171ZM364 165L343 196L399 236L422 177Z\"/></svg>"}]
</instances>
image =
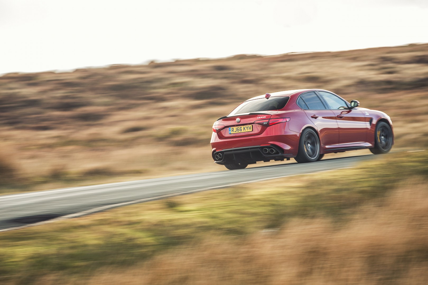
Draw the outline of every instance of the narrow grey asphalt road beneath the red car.
<instances>
[{"instance_id":1,"label":"narrow grey asphalt road beneath the red car","mask_svg":"<svg viewBox=\"0 0 428 285\"><path fill-rule=\"evenodd\" d=\"M221 188L261 179L352 167L357 162L372 157L372 155L353 156L305 164L291 163L3 195L0 196L0 230L59 219L66 215L74 217L100 212L116 206L160 199L169 195Z\"/></svg>"}]
</instances>

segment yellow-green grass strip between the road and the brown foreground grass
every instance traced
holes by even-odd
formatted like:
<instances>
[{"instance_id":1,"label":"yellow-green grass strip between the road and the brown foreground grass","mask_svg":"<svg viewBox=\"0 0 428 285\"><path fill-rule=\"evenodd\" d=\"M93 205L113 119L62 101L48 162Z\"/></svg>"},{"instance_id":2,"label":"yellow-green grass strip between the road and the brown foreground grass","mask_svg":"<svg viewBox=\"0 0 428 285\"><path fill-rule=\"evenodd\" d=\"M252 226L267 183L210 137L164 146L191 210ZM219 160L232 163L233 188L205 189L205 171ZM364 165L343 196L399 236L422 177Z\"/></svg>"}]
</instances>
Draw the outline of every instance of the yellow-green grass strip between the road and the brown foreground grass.
<instances>
[{"instance_id":1,"label":"yellow-green grass strip between the road and the brown foreground grass","mask_svg":"<svg viewBox=\"0 0 428 285\"><path fill-rule=\"evenodd\" d=\"M358 206L427 175L425 152L390 154L368 167L273 179L3 232L0 283L31 284L52 273L85 278L210 236L245 239L294 217L329 216L340 226Z\"/></svg>"}]
</instances>

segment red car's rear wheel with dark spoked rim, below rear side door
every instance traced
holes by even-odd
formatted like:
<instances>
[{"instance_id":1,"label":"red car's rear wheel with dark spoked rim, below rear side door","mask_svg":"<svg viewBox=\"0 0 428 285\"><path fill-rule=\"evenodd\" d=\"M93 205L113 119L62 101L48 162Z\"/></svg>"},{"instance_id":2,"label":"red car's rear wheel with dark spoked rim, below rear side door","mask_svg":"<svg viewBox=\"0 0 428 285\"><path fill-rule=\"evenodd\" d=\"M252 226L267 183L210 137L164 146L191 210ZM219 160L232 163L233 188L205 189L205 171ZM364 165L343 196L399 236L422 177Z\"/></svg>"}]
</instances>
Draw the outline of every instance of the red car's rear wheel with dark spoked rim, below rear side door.
<instances>
[{"instance_id":1,"label":"red car's rear wheel with dark spoked rim, below rear side door","mask_svg":"<svg viewBox=\"0 0 428 285\"><path fill-rule=\"evenodd\" d=\"M313 129L305 129L300 135L299 150L294 158L299 163L316 162L320 156L320 140Z\"/></svg>"}]
</instances>

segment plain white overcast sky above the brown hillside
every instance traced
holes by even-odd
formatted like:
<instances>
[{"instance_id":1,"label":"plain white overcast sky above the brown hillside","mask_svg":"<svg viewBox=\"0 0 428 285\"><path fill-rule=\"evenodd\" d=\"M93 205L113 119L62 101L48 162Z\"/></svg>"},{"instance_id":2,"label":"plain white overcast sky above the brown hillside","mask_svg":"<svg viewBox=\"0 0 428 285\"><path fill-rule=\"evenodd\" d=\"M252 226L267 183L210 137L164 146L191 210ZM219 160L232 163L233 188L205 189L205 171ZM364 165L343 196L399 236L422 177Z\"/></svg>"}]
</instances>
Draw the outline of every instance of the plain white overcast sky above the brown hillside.
<instances>
[{"instance_id":1,"label":"plain white overcast sky above the brown hillside","mask_svg":"<svg viewBox=\"0 0 428 285\"><path fill-rule=\"evenodd\" d=\"M428 0L0 0L0 74L428 42Z\"/></svg>"}]
</instances>

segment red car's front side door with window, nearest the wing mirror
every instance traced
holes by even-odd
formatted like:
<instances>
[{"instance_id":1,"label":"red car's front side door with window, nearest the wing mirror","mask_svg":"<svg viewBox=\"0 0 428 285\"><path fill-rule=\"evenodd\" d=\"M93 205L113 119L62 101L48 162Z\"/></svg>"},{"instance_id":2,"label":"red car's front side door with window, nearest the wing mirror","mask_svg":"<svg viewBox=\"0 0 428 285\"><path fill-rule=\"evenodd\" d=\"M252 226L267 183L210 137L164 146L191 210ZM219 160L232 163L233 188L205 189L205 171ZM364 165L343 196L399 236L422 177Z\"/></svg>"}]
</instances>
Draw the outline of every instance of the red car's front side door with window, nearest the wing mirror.
<instances>
[{"instance_id":1,"label":"red car's front side door with window, nearest the wing mirror","mask_svg":"<svg viewBox=\"0 0 428 285\"><path fill-rule=\"evenodd\" d=\"M364 113L358 109L348 108L348 103L339 96L318 91L329 109L334 112L339 125L339 144L355 144L367 141L369 123Z\"/></svg>"}]
</instances>

